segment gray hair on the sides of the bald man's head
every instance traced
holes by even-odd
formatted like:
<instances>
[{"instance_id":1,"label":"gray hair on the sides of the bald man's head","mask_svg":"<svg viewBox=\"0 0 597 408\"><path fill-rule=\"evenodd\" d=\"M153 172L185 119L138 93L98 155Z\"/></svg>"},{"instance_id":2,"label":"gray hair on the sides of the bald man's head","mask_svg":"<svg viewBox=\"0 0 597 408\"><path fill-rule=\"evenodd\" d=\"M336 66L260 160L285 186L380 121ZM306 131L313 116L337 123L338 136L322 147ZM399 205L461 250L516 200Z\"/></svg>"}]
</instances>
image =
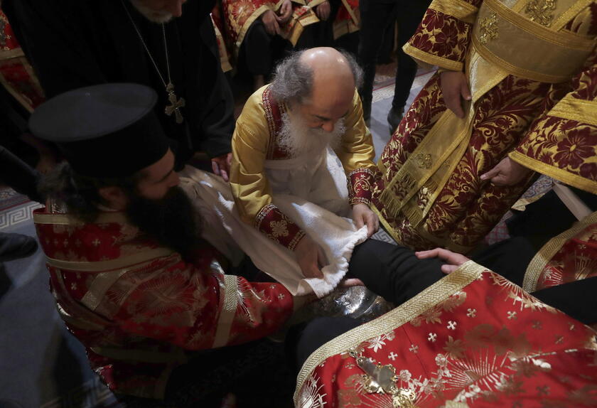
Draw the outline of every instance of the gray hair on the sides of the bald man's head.
<instances>
[{"instance_id":1,"label":"gray hair on the sides of the bald man's head","mask_svg":"<svg viewBox=\"0 0 597 408\"><path fill-rule=\"evenodd\" d=\"M301 64L300 58L305 50L295 51L284 58L277 66L274 79L271 80L271 94L279 102L296 101L304 103L311 96L313 87L313 70ZM352 54L338 50L348 62L353 72L355 87L362 84L362 69Z\"/></svg>"}]
</instances>

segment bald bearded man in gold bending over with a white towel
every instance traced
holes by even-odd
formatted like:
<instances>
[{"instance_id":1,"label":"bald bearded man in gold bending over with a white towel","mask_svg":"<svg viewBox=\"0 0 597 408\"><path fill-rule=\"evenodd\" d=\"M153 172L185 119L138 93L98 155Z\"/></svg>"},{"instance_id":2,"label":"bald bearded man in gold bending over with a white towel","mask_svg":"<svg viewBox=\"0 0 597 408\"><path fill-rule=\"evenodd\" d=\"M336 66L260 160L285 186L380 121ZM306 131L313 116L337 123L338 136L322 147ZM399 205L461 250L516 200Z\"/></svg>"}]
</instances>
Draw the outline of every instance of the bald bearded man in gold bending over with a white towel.
<instances>
[{"instance_id":1,"label":"bald bearded man in gold bending over with a white towel","mask_svg":"<svg viewBox=\"0 0 597 408\"><path fill-rule=\"evenodd\" d=\"M295 53L249 97L232 136L240 217L294 252L317 294L337 284L353 247L379 227L369 208L376 167L361 77L354 58L333 48Z\"/></svg>"}]
</instances>

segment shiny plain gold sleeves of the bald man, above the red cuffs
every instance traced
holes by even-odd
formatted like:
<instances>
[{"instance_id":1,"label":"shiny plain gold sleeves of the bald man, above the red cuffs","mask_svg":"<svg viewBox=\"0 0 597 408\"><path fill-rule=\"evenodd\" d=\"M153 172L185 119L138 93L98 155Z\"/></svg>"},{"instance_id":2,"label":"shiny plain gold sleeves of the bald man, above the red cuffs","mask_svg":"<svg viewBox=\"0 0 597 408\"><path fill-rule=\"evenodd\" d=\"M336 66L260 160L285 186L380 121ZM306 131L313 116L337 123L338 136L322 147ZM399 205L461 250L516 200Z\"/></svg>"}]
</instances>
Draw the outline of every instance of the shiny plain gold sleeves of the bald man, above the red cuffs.
<instances>
[{"instance_id":1,"label":"shiny plain gold sleeves of the bald man, above the red cuffs","mask_svg":"<svg viewBox=\"0 0 597 408\"><path fill-rule=\"evenodd\" d=\"M263 104L266 87L257 90L237 119L235 133L232 136L232 169L230 186L235 196L238 211L242 219L253 225L255 218L266 205L271 204L271 188L264 170L264 161L290 159L277 155L279 149L276 137L272 137ZM353 109L344 118L346 132L342 136L340 147L335 154L342 162L345 173L356 168L375 169L372 159L375 157L370 131L362 119L360 98L355 91Z\"/></svg>"}]
</instances>

